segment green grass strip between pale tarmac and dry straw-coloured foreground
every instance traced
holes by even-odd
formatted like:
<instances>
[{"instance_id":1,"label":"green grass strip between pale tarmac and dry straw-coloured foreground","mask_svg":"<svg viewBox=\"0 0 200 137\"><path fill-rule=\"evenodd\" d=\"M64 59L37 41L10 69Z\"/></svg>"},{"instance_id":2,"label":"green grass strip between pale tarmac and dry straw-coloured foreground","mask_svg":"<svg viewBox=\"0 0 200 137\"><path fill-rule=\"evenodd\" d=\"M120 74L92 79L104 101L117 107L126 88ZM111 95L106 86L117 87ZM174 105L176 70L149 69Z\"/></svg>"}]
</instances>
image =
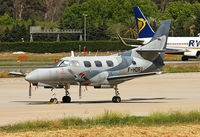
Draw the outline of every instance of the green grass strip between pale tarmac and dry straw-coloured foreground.
<instances>
[{"instance_id":1,"label":"green grass strip between pale tarmac and dry straw-coloured foreground","mask_svg":"<svg viewBox=\"0 0 200 137\"><path fill-rule=\"evenodd\" d=\"M47 131L60 129L83 129L94 126L161 126L179 124L200 124L200 112L156 112L149 116L131 116L128 114L106 111L103 115L93 118L69 117L59 120L37 120L7 125L0 132Z\"/></svg>"}]
</instances>

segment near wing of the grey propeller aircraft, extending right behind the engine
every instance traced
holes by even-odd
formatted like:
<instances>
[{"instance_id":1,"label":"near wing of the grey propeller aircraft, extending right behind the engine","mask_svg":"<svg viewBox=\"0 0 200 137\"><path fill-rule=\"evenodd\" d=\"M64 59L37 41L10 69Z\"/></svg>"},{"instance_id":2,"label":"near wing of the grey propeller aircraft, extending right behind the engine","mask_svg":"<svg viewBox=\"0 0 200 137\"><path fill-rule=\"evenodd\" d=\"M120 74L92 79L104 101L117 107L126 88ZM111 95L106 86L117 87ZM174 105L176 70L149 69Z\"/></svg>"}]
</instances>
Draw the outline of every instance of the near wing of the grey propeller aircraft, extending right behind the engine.
<instances>
[{"instance_id":1,"label":"near wing of the grey propeller aircraft, extending right behind the engine","mask_svg":"<svg viewBox=\"0 0 200 137\"><path fill-rule=\"evenodd\" d=\"M111 83L122 83L127 80L131 80L136 77L142 77L147 75L155 75L159 74L160 72L148 72L148 73L138 73L138 74L128 74L128 75L117 75L117 76L109 76L107 80Z\"/></svg>"}]
</instances>

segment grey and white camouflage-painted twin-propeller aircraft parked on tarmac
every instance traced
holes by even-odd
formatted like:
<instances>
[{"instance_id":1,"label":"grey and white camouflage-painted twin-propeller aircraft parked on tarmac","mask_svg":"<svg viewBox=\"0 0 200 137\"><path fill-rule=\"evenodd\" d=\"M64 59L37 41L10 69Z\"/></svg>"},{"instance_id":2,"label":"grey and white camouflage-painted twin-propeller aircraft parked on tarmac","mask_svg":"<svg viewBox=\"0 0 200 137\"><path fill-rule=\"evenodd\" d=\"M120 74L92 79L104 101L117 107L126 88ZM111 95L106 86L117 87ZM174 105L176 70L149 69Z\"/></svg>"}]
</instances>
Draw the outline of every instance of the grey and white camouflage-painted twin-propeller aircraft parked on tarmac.
<instances>
[{"instance_id":1,"label":"grey and white camouflage-painted twin-propeller aircraft parked on tarmac","mask_svg":"<svg viewBox=\"0 0 200 137\"><path fill-rule=\"evenodd\" d=\"M136 77L160 74L170 28L170 20L163 21L150 42L126 52L111 56L65 57L51 68L39 68L31 73L10 72L10 75L25 76L31 86L64 88L62 102L71 102L70 85L88 85L94 88L114 88L112 102L121 102L117 85ZM57 103L54 94L50 102Z\"/></svg>"}]
</instances>

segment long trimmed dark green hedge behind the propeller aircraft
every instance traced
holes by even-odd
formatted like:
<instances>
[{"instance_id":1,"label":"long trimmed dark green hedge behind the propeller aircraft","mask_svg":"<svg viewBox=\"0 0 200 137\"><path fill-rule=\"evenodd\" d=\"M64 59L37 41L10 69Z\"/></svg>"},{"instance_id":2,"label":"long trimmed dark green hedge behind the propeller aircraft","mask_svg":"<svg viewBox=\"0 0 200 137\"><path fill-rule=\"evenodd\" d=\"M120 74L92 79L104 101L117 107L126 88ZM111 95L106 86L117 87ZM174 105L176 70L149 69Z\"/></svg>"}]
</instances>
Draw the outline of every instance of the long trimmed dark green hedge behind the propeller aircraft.
<instances>
[{"instance_id":1,"label":"long trimmed dark green hedge behind the propeller aircraft","mask_svg":"<svg viewBox=\"0 0 200 137\"><path fill-rule=\"evenodd\" d=\"M129 44L135 44L129 42ZM0 52L60 53L73 51L124 51L131 49L119 41L0 42Z\"/></svg>"}]
</instances>

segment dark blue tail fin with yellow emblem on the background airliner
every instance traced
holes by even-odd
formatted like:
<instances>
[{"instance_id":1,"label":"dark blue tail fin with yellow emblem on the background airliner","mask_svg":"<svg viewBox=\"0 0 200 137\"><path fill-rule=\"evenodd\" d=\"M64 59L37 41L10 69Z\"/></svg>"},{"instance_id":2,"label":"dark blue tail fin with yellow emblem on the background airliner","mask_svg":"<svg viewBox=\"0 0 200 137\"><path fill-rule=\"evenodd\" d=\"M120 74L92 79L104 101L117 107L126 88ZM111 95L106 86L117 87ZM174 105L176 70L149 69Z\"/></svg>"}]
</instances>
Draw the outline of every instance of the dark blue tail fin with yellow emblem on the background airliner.
<instances>
[{"instance_id":1,"label":"dark blue tail fin with yellow emblem on the background airliner","mask_svg":"<svg viewBox=\"0 0 200 137\"><path fill-rule=\"evenodd\" d=\"M154 31L149 25L148 21L144 17L139 7L134 7L135 19L137 30L139 33L139 38L148 38L153 37Z\"/></svg>"}]
</instances>

